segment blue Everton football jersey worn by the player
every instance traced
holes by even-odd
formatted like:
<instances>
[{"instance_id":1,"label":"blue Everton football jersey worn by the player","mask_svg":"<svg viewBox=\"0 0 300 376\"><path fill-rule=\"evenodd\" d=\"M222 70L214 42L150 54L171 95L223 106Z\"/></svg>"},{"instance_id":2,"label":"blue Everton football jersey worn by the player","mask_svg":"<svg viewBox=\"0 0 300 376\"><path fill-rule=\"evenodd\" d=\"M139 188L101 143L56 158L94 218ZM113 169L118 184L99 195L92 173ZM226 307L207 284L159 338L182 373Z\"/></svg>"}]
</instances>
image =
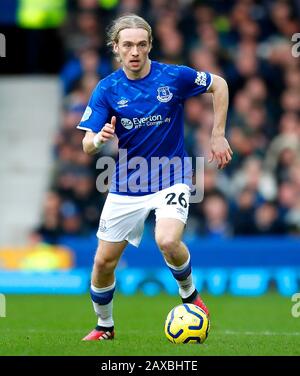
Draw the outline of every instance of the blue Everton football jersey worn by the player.
<instances>
[{"instance_id":1,"label":"blue Everton football jersey worn by the player","mask_svg":"<svg viewBox=\"0 0 300 376\"><path fill-rule=\"evenodd\" d=\"M111 193L140 196L176 183L191 185L184 101L205 93L211 83L209 72L156 61L141 79L118 69L98 83L77 128L98 133L116 116L119 156Z\"/></svg>"}]
</instances>

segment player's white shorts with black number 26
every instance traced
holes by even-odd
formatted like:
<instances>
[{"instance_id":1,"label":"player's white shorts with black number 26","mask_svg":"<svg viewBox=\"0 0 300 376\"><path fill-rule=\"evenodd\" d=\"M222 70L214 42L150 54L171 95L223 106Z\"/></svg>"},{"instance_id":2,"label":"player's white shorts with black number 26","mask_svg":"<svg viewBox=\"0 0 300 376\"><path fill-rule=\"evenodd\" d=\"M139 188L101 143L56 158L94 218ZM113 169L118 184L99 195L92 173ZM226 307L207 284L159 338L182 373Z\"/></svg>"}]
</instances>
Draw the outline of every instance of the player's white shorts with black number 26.
<instances>
[{"instance_id":1,"label":"player's white shorts with black number 26","mask_svg":"<svg viewBox=\"0 0 300 376\"><path fill-rule=\"evenodd\" d=\"M156 221L160 218L175 218L185 224L189 198L190 188L186 184L175 184L144 196L109 193L102 210L97 237L109 242L127 240L138 247L145 220L151 210L155 210Z\"/></svg>"}]
</instances>

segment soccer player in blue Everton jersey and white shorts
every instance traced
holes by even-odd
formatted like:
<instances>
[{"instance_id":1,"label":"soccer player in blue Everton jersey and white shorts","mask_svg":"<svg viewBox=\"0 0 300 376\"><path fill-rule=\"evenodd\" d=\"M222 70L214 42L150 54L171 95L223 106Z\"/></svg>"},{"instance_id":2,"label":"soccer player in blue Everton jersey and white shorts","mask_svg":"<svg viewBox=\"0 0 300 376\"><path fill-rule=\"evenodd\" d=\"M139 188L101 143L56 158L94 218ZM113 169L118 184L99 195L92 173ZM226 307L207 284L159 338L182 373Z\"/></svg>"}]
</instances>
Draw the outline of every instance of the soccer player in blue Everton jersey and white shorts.
<instances>
[{"instance_id":1,"label":"soccer player in blue Everton jersey and white shorts","mask_svg":"<svg viewBox=\"0 0 300 376\"><path fill-rule=\"evenodd\" d=\"M151 27L137 15L116 19L108 36L122 67L99 82L78 125L86 131L82 143L88 154L97 153L115 135L119 143L119 160L100 218L92 270L90 292L98 323L83 338L86 341L114 338L114 271L126 245L138 247L151 210L156 215L155 240L178 283L182 302L194 303L209 314L193 283L189 250L181 241L191 176L191 168L183 171L180 164L187 156L183 142L185 99L212 93L215 115L210 161L224 168L232 155L224 136L228 87L223 78L151 61ZM124 153L120 157L121 149L126 150L126 158ZM161 166L153 167L155 158L160 158ZM170 160L175 163L168 170L170 183L166 185L163 172ZM134 164L144 168L139 179ZM140 189L135 189L136 185Z\"/></svg>"}]
</instances>

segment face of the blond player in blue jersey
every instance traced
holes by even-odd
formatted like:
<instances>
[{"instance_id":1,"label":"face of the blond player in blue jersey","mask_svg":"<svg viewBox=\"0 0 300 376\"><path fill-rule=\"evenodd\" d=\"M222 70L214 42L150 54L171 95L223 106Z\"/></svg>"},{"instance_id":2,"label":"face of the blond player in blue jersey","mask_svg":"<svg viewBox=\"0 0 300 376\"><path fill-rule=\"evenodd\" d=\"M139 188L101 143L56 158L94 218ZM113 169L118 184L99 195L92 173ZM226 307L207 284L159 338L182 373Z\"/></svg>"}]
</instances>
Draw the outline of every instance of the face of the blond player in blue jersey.
<instances>
[{"instance_id":1,"label":"face of the blond player in blue jersey","mask_svg":"<svg viewBox=\"0 0 300 376\"><path fill-rule=\"evenodd\" d=\"M133 78L143 77L149 69L151 44L144 29L124 29L119 33L119 41L114 45L120 56L125 73Z\"/></svg>"}]
</instances>

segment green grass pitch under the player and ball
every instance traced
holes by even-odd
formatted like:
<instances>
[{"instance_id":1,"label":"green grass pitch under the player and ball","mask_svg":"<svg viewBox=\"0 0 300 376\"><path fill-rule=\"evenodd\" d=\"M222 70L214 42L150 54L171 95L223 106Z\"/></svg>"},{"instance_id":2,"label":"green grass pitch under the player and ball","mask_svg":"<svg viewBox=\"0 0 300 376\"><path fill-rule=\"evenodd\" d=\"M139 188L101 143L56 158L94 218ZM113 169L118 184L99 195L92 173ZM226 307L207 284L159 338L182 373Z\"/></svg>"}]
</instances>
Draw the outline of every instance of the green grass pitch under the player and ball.
<instances>
[{"instance_id":1,"label":"green grass pitch under the player and ball","mask_svg":"<svg viewBox=\"0 0 300 376\"><path fill-rule=\"evenodd\" d=\"M96 322L88 295L8 295L0 355L300 355L300 317L291 315L290 298L203 297L212 315L208 339L175 345L164 321L177 297L116 293L115 340L83 342Z\"/></svg>"}]
</instances>

